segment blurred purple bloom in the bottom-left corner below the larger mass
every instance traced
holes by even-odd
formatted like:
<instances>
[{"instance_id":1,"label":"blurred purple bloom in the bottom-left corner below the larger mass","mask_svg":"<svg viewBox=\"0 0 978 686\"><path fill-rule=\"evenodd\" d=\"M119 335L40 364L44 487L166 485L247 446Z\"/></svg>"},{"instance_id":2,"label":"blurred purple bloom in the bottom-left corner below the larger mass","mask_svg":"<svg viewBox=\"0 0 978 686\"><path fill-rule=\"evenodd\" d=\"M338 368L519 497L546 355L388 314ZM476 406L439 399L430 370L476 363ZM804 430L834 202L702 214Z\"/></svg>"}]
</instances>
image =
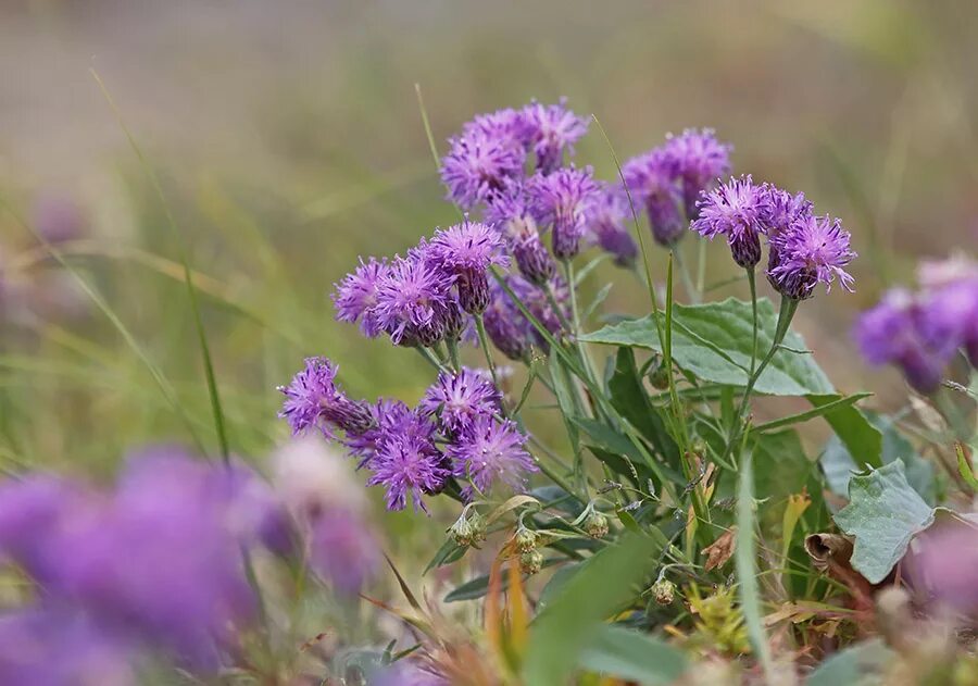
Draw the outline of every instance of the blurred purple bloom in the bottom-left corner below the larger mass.
<instances>
[{"instance_id":1,"label":"blurred purple bloom in the bottom-left corner below the larger mass","mask_svg":"<svg viewBox=\"0 0 978 686\"><path fill-rule=\"evenodd\" d=\"M5 686L131 686L133 646L79 613L27 608L0 614L0 683Z\"/></svg>"}]
</instances>

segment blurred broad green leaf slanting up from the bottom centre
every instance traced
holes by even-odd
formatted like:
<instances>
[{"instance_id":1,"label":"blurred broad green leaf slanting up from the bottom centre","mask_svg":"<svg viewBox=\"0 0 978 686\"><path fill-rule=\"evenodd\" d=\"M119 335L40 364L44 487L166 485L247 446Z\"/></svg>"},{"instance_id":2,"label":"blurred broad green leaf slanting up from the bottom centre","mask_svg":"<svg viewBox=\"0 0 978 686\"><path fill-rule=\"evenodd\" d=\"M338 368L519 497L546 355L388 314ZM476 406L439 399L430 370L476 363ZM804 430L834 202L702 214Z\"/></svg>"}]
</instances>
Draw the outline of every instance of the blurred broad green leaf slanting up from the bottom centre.
<instances>
[{"instance_id":1,"label":"blurred broad green leaf slanting up from the bottom centre","mask_svg":"<svg viewBox=\"0 0 978 686\"><path fill-rule=\"evenodd\" d=\"M574 574L534 622L524 683L569 683L576 661L568 656L580 654L601 631L601 623L634 599L632 585L655 565L661 550L656 540L629 534Z\"/></svg>"}]
</instances>

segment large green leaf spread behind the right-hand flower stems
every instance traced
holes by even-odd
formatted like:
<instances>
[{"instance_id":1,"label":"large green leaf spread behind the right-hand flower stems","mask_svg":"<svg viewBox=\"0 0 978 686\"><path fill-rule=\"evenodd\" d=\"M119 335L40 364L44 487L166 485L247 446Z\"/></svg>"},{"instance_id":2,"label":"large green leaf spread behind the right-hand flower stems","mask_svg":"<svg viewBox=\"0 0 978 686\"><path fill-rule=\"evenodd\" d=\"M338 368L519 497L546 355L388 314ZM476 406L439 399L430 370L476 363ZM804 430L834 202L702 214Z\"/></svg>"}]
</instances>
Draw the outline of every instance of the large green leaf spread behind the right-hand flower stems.
<instances>
[{"instance_id":1,"label":"large green leaf spread behind the right-hand flower stems","mask_svg":"<svg viewBox=\"0 0 978 686\"><path fill-rule=\"evenodd\" d=\"M660 314L660 316L662 316ZM757 301L758 357L774 340L777 313L766 298ZM751 304L734 298L707 304L673 308L673 360L699 378L728 386L745 386L751 365ZM664 325L664 322L663 322ZM662 351L652 315L605 326L581 340ZM790 350L775 353L755 390L775 396L829 395L831 382L804 352L801 336L789 332L782 344Z\"/></svg>"}]
</instances>

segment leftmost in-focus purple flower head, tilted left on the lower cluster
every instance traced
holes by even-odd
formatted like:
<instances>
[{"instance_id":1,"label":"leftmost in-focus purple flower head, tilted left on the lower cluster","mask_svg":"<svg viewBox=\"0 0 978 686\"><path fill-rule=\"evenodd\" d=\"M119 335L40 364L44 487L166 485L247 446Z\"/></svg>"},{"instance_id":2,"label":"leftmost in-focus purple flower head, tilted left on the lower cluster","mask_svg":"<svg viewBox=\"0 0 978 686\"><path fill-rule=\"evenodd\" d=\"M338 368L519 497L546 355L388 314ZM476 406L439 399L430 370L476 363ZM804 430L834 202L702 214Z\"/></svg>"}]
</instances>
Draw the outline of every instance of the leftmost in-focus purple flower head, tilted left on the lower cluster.
<instances>
[{"instance_id":1,"label":"leftmost in-focus purple flower head, tilted left on the lower cluster","mask_svg":"<svg viewBox=\"0 0 978 686\"><path fill-rule=\"evenodd\" d=\"M326 358L306 358L305 369L288 386L278 388L286 397L278 416L288 420L292 434L315 427L329 438L334 426L359 433L371 425L364 403L350 400L337 388L336 372L336 364Z\"/></svg>"}]
</instances>

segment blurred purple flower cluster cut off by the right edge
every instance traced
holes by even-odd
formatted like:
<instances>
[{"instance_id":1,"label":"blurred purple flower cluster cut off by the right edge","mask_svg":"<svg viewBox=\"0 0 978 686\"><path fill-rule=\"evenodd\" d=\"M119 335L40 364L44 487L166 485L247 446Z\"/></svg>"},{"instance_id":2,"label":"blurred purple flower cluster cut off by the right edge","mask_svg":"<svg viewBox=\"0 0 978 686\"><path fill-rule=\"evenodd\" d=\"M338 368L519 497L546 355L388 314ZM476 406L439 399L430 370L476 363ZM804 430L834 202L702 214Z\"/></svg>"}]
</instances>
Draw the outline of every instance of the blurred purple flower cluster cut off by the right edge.
<instances>
[{"instance_id":1,"label":"blurred purple flower cluster cut off by the right edge","mask_svg":"<svg viewBox=\"0 0 978 686\"><path fill-rule=\"evenodd\" d=\"M958 350L978 367L978 264L963 257L925 263L918 280L918 291L894 288L864 312L854 336L870 364L895 364L930 394Z\"/></svg>"}]
</instances>

